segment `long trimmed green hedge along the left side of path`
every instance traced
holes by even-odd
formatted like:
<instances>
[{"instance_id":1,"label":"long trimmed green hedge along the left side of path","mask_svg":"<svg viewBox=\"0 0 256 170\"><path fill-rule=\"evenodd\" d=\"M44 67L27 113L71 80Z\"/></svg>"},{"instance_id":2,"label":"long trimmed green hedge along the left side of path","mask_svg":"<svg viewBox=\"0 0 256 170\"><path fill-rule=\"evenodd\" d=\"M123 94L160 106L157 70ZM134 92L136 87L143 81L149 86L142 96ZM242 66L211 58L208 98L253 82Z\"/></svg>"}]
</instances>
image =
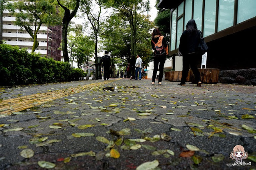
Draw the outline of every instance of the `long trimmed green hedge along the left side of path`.
<instances>
[{"instance_id":1,"label":"long trimmed green hedge along the left side of path","mask_svg":"<svg viewBox=\"0 0 256 170\"><path fill-rule=\"evenodd\" d=\"M85 72L67 62L30 54L24 48L0 44L0 86L83 80Z\"/></svg>"}]
</instances>

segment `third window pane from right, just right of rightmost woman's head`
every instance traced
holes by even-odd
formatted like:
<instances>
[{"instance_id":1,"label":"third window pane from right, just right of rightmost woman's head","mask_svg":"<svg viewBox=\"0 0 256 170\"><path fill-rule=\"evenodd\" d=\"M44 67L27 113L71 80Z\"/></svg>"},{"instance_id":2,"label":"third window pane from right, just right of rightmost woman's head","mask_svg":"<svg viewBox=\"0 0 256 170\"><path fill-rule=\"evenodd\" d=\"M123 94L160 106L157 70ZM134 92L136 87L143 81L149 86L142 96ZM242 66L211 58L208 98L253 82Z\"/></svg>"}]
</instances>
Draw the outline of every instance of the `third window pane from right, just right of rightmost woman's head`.
<instances>
[{"instance_id":1,"label":"third window pane from right, just right of rightmost woman's head","mask_svg":"<svg viewBox=\"0 0 256 170\"><path fill-rule=\"evenodd\" d=\"M204 37L215 33L216 0L205 0Z\"/></svg>"}]
</instances>

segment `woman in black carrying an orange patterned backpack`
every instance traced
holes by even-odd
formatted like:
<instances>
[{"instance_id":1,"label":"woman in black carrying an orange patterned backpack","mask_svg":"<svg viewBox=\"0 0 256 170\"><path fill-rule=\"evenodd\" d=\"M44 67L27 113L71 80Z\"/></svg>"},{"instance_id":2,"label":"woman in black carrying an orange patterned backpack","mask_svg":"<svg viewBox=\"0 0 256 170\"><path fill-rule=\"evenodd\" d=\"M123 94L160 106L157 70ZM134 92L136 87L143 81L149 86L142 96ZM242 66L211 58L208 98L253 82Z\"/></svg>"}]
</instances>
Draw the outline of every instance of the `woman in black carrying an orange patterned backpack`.
<instances>
[{"instance_id":1,"label":"woman in black carrying an orange patterned backpack","mask_svg":"<svg viewBox=\"0 0 256 170\"><path fill-rule=\"evenodd\" d=\"M164 39L164 36L162 36L158 28L155 28L153 30L151 46L152 46L152 49L154 50L154 62L153 62L154 70L153 70L151 84L155 84L156 74L159 66L158 84L161 85L162 79L164 76L164 63L166 60L166 54L168 54L168 46L166 44L166 40ZM162 48L162 50L159 50L159 48L160 49Z\"/></svg>"}]
</instances>

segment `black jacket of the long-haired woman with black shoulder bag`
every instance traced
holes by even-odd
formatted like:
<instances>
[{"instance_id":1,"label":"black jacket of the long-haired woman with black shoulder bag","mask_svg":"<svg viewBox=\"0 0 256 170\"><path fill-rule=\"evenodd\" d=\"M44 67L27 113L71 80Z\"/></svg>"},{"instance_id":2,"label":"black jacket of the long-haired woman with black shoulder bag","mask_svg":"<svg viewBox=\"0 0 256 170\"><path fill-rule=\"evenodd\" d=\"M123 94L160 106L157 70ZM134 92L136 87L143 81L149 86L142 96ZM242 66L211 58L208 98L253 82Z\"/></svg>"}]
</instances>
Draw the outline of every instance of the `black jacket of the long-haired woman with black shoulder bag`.
<instances>
[{"instance_id":1,"label":"black jacket of the long-haired woman with black shoulder bag","mask_svg":"<svg viewBox=\"0 0 256 170\"><path fill-rule=\"evenodd\" d=\"M197 47L200 40L200 32L189 32L185 30L180 37L179 50L181 54L188 54L192 52L197 52Z\"/></svg>"}]
</instances>

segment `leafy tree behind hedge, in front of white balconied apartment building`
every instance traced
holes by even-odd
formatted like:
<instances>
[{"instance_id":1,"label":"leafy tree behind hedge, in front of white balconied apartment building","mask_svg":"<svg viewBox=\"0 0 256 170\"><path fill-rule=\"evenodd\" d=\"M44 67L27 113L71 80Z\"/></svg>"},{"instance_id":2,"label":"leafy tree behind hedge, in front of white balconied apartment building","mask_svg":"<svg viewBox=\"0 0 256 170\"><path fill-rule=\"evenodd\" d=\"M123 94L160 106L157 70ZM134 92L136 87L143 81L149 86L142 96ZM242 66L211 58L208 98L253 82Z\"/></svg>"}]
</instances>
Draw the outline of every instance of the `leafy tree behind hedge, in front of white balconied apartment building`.
<instances>
[{"instance_id":1,"label":"leafy tree behind hedge, in front of white balconied apartment building","mask_svg":"<svg viewBox=\"0 0 256 170\"><path fill-rule=\"evenodd\" d=\"M52 0L26 0L8 4L8 10L16 17L15 25L24 28L33 39L32 52L39 46L37 34L42 24L61 23L60 14Z\"/></svg>"}]
</instances>

